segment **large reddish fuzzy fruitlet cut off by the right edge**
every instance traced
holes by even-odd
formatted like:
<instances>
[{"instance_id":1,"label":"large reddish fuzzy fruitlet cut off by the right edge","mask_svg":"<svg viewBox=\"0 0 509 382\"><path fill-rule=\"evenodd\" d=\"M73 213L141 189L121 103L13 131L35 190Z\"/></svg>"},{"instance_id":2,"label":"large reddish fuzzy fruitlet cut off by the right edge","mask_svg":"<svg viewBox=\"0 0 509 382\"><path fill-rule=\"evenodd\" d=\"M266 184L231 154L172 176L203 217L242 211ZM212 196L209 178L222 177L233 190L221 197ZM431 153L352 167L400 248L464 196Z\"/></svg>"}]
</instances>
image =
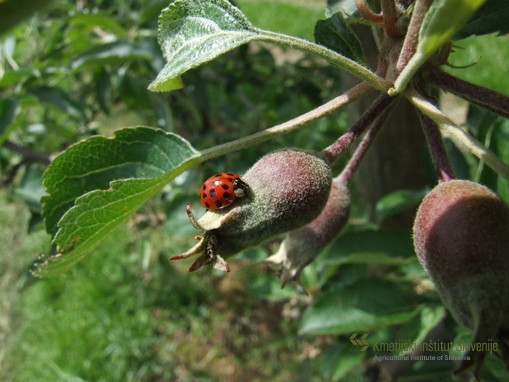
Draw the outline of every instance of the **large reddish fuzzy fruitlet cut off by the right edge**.
<instances>
[{"instance_id":1,"label":"large reddish fuzzy fruitlet cut off by the right edge","mask_svg":"<svg viewBox=\"0 0 509 382\"><path fill-rule=\"evenodd\" d=\"M456 373L473 366L479 378L490 343L509 365L509 207L480 184L440 183L419 207L413 238L444 305L474 333Z\"/></svg>"}]
</instances>

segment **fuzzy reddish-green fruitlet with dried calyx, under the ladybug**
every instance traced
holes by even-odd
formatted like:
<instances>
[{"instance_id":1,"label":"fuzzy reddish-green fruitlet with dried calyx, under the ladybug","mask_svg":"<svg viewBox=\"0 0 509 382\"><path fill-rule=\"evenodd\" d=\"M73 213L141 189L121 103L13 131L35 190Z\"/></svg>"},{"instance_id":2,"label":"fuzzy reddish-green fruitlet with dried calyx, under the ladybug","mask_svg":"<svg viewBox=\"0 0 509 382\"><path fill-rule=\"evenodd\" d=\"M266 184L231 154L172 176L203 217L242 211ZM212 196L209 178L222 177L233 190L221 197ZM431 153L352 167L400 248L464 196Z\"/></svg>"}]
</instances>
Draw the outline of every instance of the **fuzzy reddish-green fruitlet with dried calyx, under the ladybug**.
<instances>
[{"instance_id":1,"label":"fuzzy reddish-green fruitlet with dried calyx, under the ladybug","mask_svg":"<svg viewBox=\"0 0 509 382\"><path fill-rule=\"evenodd\" d=\"M212 264L229 272L224 258L315 219L332 182L330 166L318 153L294 149L263 156L242 179L249 193L228 208L207 210L195 219L188 205L191 223L203 233L193 248L171 260L201 254L189 271Z\"/></svg>"}]
</instances>

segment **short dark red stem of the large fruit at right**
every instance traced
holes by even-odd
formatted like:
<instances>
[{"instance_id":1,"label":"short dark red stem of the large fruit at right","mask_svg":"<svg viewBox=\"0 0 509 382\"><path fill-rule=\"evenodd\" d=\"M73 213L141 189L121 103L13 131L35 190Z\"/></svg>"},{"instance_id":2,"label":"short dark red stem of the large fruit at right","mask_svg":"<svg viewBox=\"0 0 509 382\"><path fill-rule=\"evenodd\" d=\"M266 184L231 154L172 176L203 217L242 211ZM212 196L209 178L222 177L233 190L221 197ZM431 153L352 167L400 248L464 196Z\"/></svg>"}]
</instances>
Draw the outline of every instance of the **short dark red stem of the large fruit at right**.
<instances>
[{"instance_id":1,"label":"short dark red stem of the large fruit at right","mask_svg":"<svg viewBox=\"0 0 509 382\"><path fill-rule=\"evenodd\" d=\"M449 162L438 125L422 113L419 113L419 120L421 121L426 141L428 142L431 159L437 171L438 179L440 182L447 182L448 180L454 179L454 172Z\"/></svg>"}]
</instances>

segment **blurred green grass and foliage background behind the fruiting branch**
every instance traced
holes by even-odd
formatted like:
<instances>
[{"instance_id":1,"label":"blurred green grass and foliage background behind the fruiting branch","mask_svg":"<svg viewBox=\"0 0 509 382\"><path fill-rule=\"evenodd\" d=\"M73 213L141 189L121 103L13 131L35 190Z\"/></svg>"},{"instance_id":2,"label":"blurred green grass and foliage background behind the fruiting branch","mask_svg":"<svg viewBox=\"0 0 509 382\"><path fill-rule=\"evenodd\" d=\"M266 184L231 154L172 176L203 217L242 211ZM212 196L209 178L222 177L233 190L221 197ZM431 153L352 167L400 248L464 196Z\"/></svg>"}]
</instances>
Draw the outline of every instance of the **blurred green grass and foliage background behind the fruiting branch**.
<instances>
[{"instance_id":1,"label":"blurred green grass and foliage background behind the fruiting branch","mask_svg":"<svg viewBox=\"0 0 509 382\"><path fill-rule=\"evenodd\" d=\"M308 39L325 18L325 1L237 4L256 26ZM346 232L305 270L307 295L298 286L281 289L257 263L274 250L270 243L232 259L227 276L188 274L189 262L167 260L193 244L185 203L197 203L210 173L242 173L280 147L322 149L346 130L346 112L186 172L68 274L30 277L31 262L50 246L38 200L52 155L138 124L203 149L293 118L345 88L321 60L250 44L187 73L182 90L150 93L163 65L157 16L167 5L56 2L0 38L0 380L362 380L369 355L352 351L351 333L417 341L446 316L408 231L387 231L356 205ZM479 62L453 73L507 94L508 46L507 36L460 41L454 64ZM507 121L458 108L507 162ZM458 158L464 174L500 192L492 173ZM381 222L417 203L416 193L402 190L379 203L377 216ZM449 317L443 325L456 338L466 335ZM487 362L500 369L494 357ZM449 363L418 363L400 380L447 380L450 371Z\"/></svg>"}]
</instances>

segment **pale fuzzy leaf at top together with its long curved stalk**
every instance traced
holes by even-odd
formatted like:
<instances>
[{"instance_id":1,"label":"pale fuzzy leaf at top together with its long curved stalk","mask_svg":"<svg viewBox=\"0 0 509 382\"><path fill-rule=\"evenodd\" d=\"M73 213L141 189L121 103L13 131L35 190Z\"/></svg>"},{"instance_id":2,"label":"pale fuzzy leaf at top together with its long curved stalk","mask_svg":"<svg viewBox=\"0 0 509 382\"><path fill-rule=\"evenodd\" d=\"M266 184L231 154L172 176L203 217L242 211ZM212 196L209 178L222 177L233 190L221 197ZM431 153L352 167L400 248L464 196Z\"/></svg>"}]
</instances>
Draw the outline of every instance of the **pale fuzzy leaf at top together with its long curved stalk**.
<instances>
[{"instance_id":1,"label":"pale fuzzy leaf at top together with its long curved stalk","mask_svg":"<svg viewBox=\"0 0 509 382\"><path fill-rule=\"evenodd\" d=\"M389 88L387 81L368 68L322 45L254 27L227 0L177 0L159 17L159 44L167 64L149 85L149 90L169 91L182 87L179 76L186 71L253 40L316 54L377 89Z\"/></svg>"}]
</instances>

